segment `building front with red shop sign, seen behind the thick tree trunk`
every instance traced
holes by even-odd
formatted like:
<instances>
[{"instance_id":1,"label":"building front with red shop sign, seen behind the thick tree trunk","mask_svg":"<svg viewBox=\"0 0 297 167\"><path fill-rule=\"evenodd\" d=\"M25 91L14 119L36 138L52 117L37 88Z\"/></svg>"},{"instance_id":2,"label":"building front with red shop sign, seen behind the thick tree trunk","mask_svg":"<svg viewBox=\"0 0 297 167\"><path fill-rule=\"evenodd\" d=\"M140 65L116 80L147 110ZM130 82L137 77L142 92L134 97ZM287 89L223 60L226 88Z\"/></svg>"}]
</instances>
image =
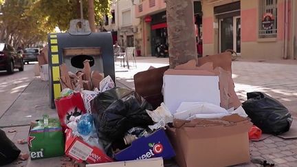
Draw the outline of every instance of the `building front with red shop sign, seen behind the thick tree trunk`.
<instances>
[{"instance_id":1,"label":"building front with red shop sign, seen behind the thick tree trunk","mask_svg":"<svg viewBox=\"0 0 297 167\"><path fill-rule=\"evenodd\" d=\"M202 12L200 1L194 1L194 18L196 37L199 43L201 37ZM142 52L144 56L157 56L159 45L168 46L166 23L166 1L142 0L135 5L135 16L141 20ZM198 46L197 46L198 49Z\"/></svg>"}]
</instances>

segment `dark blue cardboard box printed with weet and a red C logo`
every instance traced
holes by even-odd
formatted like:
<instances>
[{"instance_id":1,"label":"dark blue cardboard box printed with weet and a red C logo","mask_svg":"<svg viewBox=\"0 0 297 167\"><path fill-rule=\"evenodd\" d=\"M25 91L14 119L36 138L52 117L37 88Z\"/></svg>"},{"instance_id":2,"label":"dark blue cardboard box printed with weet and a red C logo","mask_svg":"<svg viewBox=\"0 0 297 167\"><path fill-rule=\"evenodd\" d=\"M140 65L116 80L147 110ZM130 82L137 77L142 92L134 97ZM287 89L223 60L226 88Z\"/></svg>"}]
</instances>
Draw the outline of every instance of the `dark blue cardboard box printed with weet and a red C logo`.
<instances>
[{"instance_id":1,"label":"dark blue cardboard box printed with weet and a red C logo","mask_svg":"<svg viewBox=\"0 0 297 167\"><path fill-rule=\"evenodd\" d=\"M164 129L159 129L148 135L133 141L131 146L115 154L118 161L135 159L147 159L151 157L163 157L170 159L175 156L175 151L171 146Z\"/></svg>"}]
</instances>

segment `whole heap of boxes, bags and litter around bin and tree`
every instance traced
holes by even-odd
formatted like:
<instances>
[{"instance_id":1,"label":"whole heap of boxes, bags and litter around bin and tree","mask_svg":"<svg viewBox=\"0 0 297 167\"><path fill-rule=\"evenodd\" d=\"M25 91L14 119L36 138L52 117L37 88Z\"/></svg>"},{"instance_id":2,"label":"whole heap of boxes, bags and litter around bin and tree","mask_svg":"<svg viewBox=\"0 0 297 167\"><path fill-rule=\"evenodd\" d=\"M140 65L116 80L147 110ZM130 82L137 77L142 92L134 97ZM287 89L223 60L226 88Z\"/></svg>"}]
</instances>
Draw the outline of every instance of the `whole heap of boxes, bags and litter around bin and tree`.
<instances>
[{"instance_id":1,"label":"whole heap of boxes, bags and litter around bin and tree","mask_svg":"<svg viewBox=\"0 0 297 167\"><path fill-rule=\"evenodd\" d=\"M163 159L173 158L181 167L232 166L250 162L249 138L289 131L292 116L272 98L249 93L241 104L230 54L199 63L142 71L134 77L135 91L115 87L109 76L94 77L99 74L88 72L88 61L76 74L62 65L58 119L44 116L31 126L31 159L65 154L100 166L164 166ZM140 80L147 74L157 77L155 85ZM55 147L45 148L49 143Z\"/></svg>"}]
</instances>

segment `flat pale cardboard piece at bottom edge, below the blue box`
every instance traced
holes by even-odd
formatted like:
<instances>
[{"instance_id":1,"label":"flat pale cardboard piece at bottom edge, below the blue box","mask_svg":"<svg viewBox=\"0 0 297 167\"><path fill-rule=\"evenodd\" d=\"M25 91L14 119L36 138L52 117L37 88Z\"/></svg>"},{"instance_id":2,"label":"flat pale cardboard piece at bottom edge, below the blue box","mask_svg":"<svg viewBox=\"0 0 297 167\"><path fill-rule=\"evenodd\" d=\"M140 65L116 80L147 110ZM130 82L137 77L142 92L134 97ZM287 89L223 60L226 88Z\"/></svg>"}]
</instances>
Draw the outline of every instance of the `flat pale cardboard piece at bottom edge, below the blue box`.
<instances>
[{"instance_id":1,"label":"flat pale cardboard piece at bottom edge, below the blue box","mask_svg":"<svg viewBox=\"0 0 297 167\"><path fill-rule=\"evenodd\" d=\"M126 162L111 162L104 164L91 164L87 167L164 167L162 157L141 159Z\"/></svg>"}]
</instances>

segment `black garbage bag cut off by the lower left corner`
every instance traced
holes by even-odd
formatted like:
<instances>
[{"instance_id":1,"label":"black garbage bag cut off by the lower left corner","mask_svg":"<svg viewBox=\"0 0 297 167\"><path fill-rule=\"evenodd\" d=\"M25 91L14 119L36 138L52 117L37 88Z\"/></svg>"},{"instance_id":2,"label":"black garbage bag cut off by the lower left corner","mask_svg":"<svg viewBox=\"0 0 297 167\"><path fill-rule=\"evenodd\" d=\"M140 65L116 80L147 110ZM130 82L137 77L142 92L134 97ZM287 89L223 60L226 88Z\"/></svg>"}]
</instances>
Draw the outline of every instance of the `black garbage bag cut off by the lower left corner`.
<instances>
[{"instance_id":1,"label":"black garbage bag cut off by the lower left corner","mask_svg":"<svg viewBox=\"0 0 297 167\"><path fill-rule=\"evenodd\" d=\"M10 164L19 157L21 151L0 129L0 166Z\"/></svg>"}]
</instances>

